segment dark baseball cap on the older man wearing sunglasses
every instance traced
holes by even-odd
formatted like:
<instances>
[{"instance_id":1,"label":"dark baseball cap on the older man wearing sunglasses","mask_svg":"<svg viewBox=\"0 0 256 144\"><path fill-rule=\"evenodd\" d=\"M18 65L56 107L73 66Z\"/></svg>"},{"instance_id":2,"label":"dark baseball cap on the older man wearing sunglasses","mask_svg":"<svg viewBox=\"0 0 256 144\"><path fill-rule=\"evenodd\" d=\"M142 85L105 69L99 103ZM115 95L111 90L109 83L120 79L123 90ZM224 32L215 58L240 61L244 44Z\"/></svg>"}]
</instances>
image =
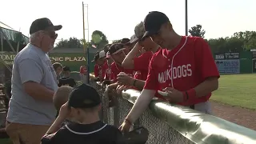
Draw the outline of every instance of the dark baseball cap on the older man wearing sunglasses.
<instances>
[{"instance_id":1,"label":"dark baseball cap on the older man wearing sunglasses","mask_svg":"<svg viewBox=\"0 0 256 144\"><path fill-rule=\"evenodd\" d=\"M50 22L49 18L38 18L32 22L30 26L30 34L34 34L39 30L61 30L62 25L54 26L52 22Z\"/></svg>"}]
</instances>

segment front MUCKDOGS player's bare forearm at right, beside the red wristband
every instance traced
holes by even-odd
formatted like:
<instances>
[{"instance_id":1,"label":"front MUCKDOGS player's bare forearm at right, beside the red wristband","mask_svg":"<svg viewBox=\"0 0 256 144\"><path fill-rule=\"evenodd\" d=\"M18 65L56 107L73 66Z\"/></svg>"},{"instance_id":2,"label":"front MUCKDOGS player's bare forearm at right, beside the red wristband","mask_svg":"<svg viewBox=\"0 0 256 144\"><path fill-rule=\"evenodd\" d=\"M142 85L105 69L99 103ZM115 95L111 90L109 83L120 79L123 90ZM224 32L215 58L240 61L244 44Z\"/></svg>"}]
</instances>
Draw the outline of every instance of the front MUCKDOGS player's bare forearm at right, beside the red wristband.
<instances>
[{"instance_id":1,"label":"front MUCKDOGS player's bare forearm at right, beside the red wristband","mask_svg":"<svg viewBox=\"0 0 256 144\"><path fill-rule=\"evenodd\" d=\"M218 89L218 78L212 77L207 78L204 82L200 83L194 88L197 97L203 97L207 94Z\"/></svg>"}]
</instances>

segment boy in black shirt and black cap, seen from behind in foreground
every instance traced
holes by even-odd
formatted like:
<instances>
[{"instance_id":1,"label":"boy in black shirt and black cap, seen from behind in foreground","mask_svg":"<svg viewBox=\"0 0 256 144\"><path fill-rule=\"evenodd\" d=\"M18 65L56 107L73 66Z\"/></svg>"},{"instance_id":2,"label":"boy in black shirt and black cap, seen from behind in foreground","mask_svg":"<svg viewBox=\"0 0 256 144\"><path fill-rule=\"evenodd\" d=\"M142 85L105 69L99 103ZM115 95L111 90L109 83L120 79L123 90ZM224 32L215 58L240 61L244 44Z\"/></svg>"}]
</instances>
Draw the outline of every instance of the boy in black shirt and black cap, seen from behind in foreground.
<instances>
[{"instance_id":1,"label":"boy in black shirt and black cap, seen from behind in foreground","mask_svg":"<svg viewBox=\"0 0 256 144\"><path fill-rule=\"evenodd\" d=\"M82 84L75 87L59 112L58 118L46 135L42 144L125 144L118 128L100 121L101 98L92 86ZM62 126L70 117L72 122Z\"/></svg>"}]
</instances>

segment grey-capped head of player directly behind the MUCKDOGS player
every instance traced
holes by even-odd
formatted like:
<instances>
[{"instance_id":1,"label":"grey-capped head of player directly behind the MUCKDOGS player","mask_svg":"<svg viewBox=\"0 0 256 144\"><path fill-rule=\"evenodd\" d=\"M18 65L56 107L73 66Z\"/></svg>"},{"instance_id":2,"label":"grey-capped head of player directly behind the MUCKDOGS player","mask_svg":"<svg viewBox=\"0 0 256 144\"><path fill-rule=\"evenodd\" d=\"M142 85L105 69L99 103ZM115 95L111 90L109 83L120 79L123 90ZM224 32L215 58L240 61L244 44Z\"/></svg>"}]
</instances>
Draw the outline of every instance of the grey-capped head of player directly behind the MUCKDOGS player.
<instances>
[{"instance_id":1,"label":"grey-capped head of player directly behind the MUCKDOGS player","mask_svg":"<svg viewBox=\"0 0 256 144\"><path fill-rule=\"evenodd\" d=\"M153 46L157 46L157 44L150 38L150 37L144 37L145 29L143 22L138 23L137 26L134 28L135 32L135 38L134 41L138 41L139 45L143 47L144 50L150 51Z\"/></svg>"}]
</instances>

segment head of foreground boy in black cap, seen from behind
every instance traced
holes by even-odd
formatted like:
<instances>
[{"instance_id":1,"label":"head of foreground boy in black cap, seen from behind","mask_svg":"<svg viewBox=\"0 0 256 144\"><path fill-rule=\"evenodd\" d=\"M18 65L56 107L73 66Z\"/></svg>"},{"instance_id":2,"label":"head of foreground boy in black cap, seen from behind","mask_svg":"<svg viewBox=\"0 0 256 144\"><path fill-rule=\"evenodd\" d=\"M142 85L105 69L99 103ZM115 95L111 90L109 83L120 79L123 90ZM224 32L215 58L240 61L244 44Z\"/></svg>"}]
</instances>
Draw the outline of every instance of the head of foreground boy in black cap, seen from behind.
<instances>
[{"instance_id":1,"label":"head of foreground boy in black cap, seen from behind","mask_svg":"<svg viewBox=\"0 0 256 144\"><path fill-rule=\"evenodd\" d=\"M77 86L70 92L68 101L70 118L75 122L98 121L101 103L101 98L94 87L87 84Z\"/></svg>"}]
</instances>

